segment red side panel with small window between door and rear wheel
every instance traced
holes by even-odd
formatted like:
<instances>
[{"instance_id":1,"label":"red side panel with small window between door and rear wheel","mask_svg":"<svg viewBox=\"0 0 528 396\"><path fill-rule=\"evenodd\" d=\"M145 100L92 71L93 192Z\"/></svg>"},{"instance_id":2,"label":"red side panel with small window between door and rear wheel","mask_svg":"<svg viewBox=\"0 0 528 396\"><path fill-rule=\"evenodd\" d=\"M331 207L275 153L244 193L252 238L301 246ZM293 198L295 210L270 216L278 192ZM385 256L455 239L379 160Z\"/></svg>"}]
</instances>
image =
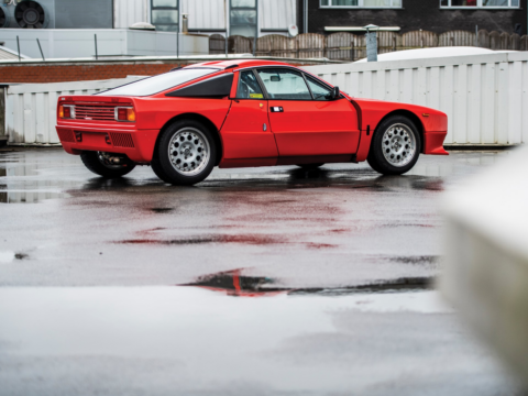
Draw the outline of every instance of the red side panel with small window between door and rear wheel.
<instances>
[{"instance_id":1,"label":"red side panel with small window between door and rear wheel","mask_svg":"<svg viewBox=\"0 0 528 396\"><path fill-rule=\"evenodd\" d=\"M278 152L267 118L267 100L257 78L253 70L238 75L237 96L221 130L223 158L276 158Z\"/></svg>"}]
</instances>

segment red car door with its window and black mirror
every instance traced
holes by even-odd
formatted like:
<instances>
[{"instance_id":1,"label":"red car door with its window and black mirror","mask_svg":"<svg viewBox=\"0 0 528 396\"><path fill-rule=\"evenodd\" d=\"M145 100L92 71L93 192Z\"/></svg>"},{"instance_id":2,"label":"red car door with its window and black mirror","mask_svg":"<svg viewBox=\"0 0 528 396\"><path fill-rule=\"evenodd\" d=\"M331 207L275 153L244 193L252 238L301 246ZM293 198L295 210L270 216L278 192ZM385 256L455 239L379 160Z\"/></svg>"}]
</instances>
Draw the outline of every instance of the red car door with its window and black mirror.
<instances>
[{"instance_id":1,"label":"red car door with its window and black mirror","mask_svg":"<svg viewBox=\"0 0 528 396\"><path fill-rule=\"evenodd\" d=\"M288 68L261 68L270 123L279 156L339 155L358 151L358 113L344 97L331 99L331 89Z\"/></svg>"}]
</instances>

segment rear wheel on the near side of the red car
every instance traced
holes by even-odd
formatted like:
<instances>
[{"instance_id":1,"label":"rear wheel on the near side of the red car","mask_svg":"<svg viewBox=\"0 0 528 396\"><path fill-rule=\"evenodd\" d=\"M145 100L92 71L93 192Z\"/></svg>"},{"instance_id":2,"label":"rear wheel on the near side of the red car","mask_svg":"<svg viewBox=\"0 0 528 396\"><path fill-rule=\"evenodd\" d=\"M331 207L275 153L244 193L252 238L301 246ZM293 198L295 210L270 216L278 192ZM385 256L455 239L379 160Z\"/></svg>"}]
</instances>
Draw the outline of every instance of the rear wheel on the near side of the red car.
<instances>
[{"instance_id":1,"label":"rear wheel on the near side of the red car","mask_svg":"<svg viewBox=\"0 0 528 396\"><path fill-rule=\"evenodd\" d=\"M211 131L199 121L180 120L162 132L151 165L162 180L191 186L209 176L216 161L217 144Z\"/></svg>"}]
</instances>

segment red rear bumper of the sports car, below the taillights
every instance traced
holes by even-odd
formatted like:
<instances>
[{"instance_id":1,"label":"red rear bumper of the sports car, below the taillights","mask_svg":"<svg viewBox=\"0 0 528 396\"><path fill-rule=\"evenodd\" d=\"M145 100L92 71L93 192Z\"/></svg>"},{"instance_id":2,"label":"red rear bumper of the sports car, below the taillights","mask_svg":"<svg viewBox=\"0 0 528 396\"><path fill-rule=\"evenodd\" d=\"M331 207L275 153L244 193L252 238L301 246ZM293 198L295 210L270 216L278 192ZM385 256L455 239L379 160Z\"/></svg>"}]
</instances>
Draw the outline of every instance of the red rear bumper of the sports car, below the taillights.
<instances>
[{"instance_id":1,"label":"red rear bumper of the sports car, below the taillights","mask_svg":"<svg viewBox=\"0 0 528 396\"><path fill-rule=\"evenodd\" d=\"M154 154L158 130L106 129L57 125L57 134L69 154L82 151L102 151L127 154L138 163L150 163ZM80 140L79 140L80 139Z\"/></svg>"}]
</instances>

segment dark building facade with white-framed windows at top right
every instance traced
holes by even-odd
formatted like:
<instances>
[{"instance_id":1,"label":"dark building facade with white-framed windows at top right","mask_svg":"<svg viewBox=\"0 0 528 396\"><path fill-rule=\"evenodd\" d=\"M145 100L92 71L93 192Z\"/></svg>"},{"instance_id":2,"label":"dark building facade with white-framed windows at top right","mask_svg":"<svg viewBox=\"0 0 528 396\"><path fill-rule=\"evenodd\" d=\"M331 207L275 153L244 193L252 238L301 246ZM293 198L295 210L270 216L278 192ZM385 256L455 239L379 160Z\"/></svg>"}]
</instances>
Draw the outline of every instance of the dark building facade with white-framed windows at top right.
<instances>
[{"instance_id":1,"label":"dark building facade with white-framed windows at top right","mask_svg":"<svg viewBox=\"0 0 528 396\"><path fill-rule=\"evenodd\" d=\"M360 31L367 24L406 33L487 30L527 34L528 0L297 0L301 33Z\"/></svg>"}]
</instances>

